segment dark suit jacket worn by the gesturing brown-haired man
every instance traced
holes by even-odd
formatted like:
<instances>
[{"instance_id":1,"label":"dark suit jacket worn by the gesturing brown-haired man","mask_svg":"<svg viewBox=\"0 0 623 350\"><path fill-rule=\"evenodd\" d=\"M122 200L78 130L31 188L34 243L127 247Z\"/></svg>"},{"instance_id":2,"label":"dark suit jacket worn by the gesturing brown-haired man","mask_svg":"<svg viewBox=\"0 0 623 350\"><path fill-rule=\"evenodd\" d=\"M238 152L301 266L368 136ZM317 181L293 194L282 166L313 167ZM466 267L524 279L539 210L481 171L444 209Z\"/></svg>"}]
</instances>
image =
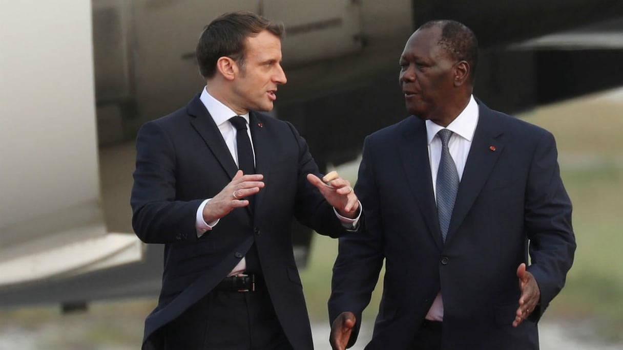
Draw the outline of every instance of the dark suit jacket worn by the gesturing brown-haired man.
<instances>
[{"instance_id":1,"label":"dark suit jacket worn by the gesturing brown-haired man","mask_svg":"<svg viewBox=\"0 0 623 350\"><path fill-rule=\"evenodd\" d=\"M197 95L188 106L146 123L136 141L133 227L143 242L164 244L163 285L145 321L143 346L161 346L158 329L227 276L255 242L283 331L294 349L312 349L303 290L292 252L292 219L331 237L347 231L333 207L307 181L320 175L305 140L286 121L250 112L256 173L265 187L253 212L234 209L197 238L196 211L237 171L234 159Z\"/></svg>"}]
</instances>

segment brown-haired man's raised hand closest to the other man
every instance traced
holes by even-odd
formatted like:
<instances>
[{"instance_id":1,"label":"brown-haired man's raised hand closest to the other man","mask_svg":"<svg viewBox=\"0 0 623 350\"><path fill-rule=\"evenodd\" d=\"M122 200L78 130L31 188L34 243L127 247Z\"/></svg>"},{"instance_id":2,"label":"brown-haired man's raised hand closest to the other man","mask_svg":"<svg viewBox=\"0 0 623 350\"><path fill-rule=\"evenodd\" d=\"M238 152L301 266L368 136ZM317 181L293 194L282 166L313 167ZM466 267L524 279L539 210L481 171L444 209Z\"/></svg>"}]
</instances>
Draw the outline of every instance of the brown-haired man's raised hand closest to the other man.
<instances>
[{"instance_id":1,"label":"brown-haired man's raised hand closest to the other man","mask_svg":"<svg viewBox=\"0 0 623 350\"><path fill-rule=\"evenodd\" d=\"M307 180L316 186L326 201L338 210L340 215L350 219L357 217L359 200L348 180L342 179L335 171L326 174L322 180L314 174L307 174Z\"/></svg>"}]
</instances>

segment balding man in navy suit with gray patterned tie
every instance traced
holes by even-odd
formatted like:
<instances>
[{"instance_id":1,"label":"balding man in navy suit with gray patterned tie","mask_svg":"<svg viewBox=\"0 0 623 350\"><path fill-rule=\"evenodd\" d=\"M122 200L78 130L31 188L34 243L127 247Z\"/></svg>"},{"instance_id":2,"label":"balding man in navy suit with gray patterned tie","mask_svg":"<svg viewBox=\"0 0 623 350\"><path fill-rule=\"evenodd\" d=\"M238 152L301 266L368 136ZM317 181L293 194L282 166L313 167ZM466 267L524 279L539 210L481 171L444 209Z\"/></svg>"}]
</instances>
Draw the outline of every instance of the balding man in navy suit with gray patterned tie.
<instances>
[{"instance_id":1,"label":"balding man in navy suit with gray patterned tie","mask_svg":"<svg viewBox=\"0 0 623 350\"><path fill-rule=\"evenodd\" d=\"M551 133L473 98L477 57L454 21L427 22L406 43L399 82L412 116L364 142L355 190L366 228L340 239L334 349L356 340L383 260L366 349L539 348L536 323L573 262L571 202Z\"/></svg>"}]
</instances>

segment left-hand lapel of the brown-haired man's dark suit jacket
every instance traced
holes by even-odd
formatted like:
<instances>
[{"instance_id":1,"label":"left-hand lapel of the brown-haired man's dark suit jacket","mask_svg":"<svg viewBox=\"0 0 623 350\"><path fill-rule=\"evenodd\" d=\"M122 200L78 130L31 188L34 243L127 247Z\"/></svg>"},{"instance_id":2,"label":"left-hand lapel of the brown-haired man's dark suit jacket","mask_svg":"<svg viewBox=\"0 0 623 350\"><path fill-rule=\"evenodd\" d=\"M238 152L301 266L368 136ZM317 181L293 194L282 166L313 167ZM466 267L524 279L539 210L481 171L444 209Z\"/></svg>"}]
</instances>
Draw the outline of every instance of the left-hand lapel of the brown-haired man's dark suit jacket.
<instances>
[{"instance_id":1,"label":"left-hand lapel of the brown-haired man's dark suit jacket","mask_svg":"<svg viewBox=\"0 0 623 350\"><path fill-rule=\"evenodd\" d=\"M207 147L214 154L214 158L219 161L230 178L234 177L238 167L235 165L231 153L229 153L229 148L223 140L221 131L214 123L210 113L207 112L206 106L199 100L199 95L193 98L186 109L188 114L193 117L191 118L193 128L201 135Z\"/></svg>"}]
</instances>

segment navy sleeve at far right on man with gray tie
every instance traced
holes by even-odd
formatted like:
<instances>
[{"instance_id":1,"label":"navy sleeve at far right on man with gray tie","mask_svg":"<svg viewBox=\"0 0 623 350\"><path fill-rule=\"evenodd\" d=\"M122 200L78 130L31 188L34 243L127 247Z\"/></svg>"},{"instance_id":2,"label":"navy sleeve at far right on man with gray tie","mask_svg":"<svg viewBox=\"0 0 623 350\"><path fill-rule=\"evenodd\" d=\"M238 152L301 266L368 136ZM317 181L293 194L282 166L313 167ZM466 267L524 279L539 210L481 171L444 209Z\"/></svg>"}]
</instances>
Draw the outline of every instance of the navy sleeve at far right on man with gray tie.
<instances>
[{"instance_id":1,"label":"navy sleeve at far right on man with gray tie","mask_svg":"<svg viewBox=\"0 0 623 350\"><path fill-rule=\"evenodd\" d=\"M564 286L573 263L576 240L571 226L571 201L564 189L553 135L546 132L535 148L528 174L525 229L531 265L540 291L536 320Z\"/></svg>"}]
</instances>

